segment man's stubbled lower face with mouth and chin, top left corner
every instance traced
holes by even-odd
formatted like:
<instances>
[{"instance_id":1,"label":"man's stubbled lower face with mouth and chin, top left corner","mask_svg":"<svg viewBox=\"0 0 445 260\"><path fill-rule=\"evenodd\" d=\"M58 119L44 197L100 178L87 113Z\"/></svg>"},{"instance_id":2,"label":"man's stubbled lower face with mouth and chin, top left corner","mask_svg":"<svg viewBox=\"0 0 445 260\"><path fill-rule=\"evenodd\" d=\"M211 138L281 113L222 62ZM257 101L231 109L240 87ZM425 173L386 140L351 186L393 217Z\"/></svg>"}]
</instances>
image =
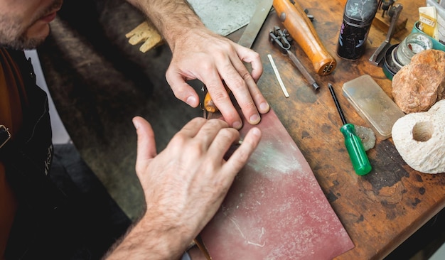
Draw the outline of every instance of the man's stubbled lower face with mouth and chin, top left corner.
<instances>
[{"instance_id":1,"label":"man's stubbled lower face with mouth and chin, top left corner","mask_svg":"<svg viewBox=\"0 0 445 260\"><path fill-rule=\"evenodd\" d=\"M63 0L0 0L0 46L32 49L50 32Z\"/></svg>"}]
</instances>

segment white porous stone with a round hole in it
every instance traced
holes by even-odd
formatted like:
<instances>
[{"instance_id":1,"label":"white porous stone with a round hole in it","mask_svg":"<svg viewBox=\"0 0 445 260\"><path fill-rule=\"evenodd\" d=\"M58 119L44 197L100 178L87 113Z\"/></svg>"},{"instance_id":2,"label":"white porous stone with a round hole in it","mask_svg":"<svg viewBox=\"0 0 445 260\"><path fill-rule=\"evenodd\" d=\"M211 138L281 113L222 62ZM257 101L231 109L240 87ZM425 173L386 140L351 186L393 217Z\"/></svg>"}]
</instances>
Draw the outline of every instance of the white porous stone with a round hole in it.
<instances>
[{"instance_id":1,"label":"white porous stone with a round hole in it","mask_svg":"<svg viewBox=\"0 0 445 260\"><path fill-rule=\"evenodd\" d=\"M428 112L407 114L392 126L403 160L421 173L445 173L445 99Z\"/></svg>"}]
</instances>

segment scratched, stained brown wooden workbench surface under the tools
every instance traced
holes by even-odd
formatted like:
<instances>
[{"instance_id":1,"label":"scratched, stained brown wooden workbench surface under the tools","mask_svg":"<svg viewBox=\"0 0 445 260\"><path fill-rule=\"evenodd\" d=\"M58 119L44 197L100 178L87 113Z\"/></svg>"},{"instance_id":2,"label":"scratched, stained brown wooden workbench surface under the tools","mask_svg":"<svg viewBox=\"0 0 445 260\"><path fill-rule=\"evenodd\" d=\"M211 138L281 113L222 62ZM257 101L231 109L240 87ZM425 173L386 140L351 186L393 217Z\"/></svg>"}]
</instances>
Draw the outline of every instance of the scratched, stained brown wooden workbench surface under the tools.
<instances>
[{"instance_id":1,"label":"scratched, stained brown wooden workbench surface under the tools","mask_svg":"<svg viewBox=\"0 0 445 260\"><path fill-rule=\"evenodd\" d=\"M371 28L368 47L360 60L351 62L336 55L336 43L342 21L344 1L299 1L315 16L313 25L328 51L335 55L336 70L327 76L313 72L311 63L298 45L296 55L311 72L319 92L313 92L304 77L286 56L270 46L267 31L280 25L277 15L269 16L261 36L254 44L264 63L259 80L263 94L309 162L323 192L353 239L355 248L337 259L382 259L413 234L445 205L445 175L428 175L412 170L402 160L392 139L377 139L368 151L372 171L365 176L354 173L339 131L341 119L333 104L327 84L331 82L350 123L367 126L341 94L343 83L368 74L391 97L391 81L381 67L368 63L370 55L385 40L386 32ZM407 31L398 33L398 43L411 31L423 1L397 1L409 17ZM267 54L272 54L284 85L290 94L285 98Z\"/></svg>"}]
</instances>

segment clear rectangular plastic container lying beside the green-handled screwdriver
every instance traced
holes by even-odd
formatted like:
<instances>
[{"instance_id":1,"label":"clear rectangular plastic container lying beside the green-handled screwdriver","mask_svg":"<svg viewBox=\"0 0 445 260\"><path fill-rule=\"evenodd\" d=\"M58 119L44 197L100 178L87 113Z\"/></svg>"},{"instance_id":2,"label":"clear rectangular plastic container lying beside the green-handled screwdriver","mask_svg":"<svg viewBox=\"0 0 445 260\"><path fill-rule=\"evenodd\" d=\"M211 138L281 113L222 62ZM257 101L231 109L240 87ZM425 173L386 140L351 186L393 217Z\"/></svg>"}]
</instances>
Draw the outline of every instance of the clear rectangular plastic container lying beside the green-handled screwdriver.
<instances>
[{"instance_id":1,"label":"clear rectangular plastic container lying beside the green-handled screwdriver","mask_svg":"<svg viewBox=\"0 0 445 260\"><path fill-rule=\"evenodd\" d=\"M370 75L345 82L343 95L380 139L389 138L395 121L405 115Z\"/></svg>"}]
</instances>

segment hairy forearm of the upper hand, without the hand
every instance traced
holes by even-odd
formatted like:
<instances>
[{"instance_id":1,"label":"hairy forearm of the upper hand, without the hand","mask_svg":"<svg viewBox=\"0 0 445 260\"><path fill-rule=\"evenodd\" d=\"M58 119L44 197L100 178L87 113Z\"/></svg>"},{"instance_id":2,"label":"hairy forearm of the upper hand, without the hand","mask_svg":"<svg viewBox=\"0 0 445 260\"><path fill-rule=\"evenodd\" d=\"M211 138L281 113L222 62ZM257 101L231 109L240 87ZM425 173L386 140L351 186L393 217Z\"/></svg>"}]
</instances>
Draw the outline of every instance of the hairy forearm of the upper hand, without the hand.
<instances>
[{"instance_id":1,"label":"hairy forearm of the upper hand, without the hand","mask_svg":"<svg viewBox=\"0 0 445 260\"><path fill-rule=\"evenodd\" d=\"M200 18L184 0L127 0L154 23L174 49L177 40L193 29L205 29Z\"/></svg>"}]
</instances>

